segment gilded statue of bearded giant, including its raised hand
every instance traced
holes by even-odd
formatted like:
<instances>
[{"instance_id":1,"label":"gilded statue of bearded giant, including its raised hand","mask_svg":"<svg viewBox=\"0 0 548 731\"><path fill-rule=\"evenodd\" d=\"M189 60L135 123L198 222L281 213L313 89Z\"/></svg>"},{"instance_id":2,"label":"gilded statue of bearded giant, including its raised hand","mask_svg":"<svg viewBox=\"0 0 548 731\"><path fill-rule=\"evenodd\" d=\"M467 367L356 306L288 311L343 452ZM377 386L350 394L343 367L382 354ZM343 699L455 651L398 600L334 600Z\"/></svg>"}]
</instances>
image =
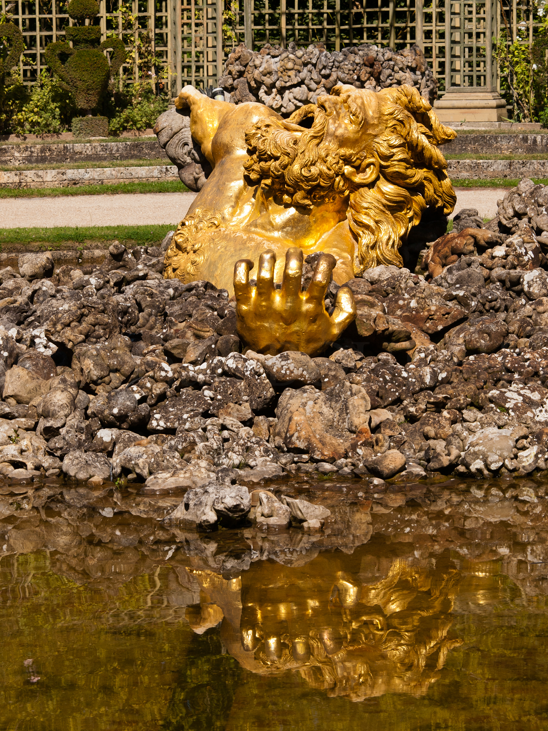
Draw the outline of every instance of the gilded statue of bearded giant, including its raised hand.
<instances>
[{"instance_id":1,"label":"gilded statue of bearded giant, including its raised hand","mask_svg":"<svg viewBox=\"0 0 548 731\"><path fill-rule=\"evenodd\" d=\"M192 86L176 107L189 117L193 154L212 172L173 235L164 276L234 291L238 332L257 352L319 354L355 317L348 287L327 313L331 279L342 285L371 267L402 266L399 249L427 206L454 208L438 145L455 132L411 86L335 86L288 120ZM303 258L316 253L302 291Z\"/></svg>"}]
</instances>

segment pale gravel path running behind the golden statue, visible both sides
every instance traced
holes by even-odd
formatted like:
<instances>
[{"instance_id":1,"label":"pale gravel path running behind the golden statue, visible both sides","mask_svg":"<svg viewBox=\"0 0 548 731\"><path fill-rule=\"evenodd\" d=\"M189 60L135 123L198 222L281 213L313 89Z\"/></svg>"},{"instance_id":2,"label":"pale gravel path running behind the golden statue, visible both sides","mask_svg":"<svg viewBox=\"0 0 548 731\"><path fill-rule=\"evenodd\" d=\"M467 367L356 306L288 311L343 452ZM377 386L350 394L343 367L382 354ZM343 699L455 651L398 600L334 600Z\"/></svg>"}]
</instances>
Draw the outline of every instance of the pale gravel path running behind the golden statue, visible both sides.
<instances>
[{"instance_id":1,"label":"pale gravel path running behind the golden statue, visible both sides","mask_svg":"<svg viewBox=\"0 0 548 731\"><path fill-rule=\"evenodd\" d=\"M454 210L477 208L481 216L494 217L497 200L505 193L503 188L460 188ZM185 216L194 197L195 193L121 193L4 198L0 202L0 228L175 225Z\"/></svg>"}]
</instances>

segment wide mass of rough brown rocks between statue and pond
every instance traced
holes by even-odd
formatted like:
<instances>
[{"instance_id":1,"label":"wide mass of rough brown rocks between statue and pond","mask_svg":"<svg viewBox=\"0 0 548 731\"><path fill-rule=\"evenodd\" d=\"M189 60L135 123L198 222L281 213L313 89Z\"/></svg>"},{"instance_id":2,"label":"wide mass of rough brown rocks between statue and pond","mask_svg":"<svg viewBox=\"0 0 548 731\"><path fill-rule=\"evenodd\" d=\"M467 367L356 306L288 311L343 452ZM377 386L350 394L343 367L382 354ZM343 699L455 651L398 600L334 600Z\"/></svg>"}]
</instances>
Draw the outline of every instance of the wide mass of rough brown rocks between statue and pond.
<instances>
[{"instance_id":1,"label":"wide mass of rough brown rocks between statue and pond","mask_svg":"<svg viewBox=\"0 0 548 731\"><path fill-rule=\"evenodd\" d=\"M482 228L457 213L414 272L349 281L357 319L324 357L241 352L226 290L162 278L170 235L93 265L21 254L0 270L0 474L180 494L170 521L251 510L312 530L325 509L267 483L544 473L547 201L523 180Z\"/></svg>"}]
</instances>

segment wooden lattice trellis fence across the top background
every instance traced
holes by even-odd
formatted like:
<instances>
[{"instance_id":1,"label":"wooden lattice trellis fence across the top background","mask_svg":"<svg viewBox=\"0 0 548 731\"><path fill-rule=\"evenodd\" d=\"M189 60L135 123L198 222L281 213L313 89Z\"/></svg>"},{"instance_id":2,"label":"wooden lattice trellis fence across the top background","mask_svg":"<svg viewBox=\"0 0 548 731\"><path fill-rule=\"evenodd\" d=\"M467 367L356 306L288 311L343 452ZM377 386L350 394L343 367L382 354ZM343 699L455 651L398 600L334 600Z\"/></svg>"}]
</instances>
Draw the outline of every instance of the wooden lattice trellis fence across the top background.
<instances>
[{"instance_id":1,"label":"wooden lattice trellis fence across the top background","mask_svg":"<svg viewBox=\"0 0 548 731\"><path fill-rule=\"evenodd\" d=\"M2 11L11 3L0 1ZM115 33L127 42L119 2L100 0L95 22L102 39ZM60 0L15 4L13 22L26 44L20 73L24 83L34 83L45 67L45 45L62 39L72 20L61 12L66 4ZM127 0L127 5L137 16L140 30L135 32L150 31L172 93L186 83L215 86L224 61L240 42L258 49L292 41L322 42L330 51L364 42L401 50L416 42L440 91L446 88L446 69L447 86L496 88L490 39L506 27L501 13L512 39L522 43L533 42L537 25L533 0ZM123 72L137 80L137 64L126 64Z\"/></svg>"}]
</instances>

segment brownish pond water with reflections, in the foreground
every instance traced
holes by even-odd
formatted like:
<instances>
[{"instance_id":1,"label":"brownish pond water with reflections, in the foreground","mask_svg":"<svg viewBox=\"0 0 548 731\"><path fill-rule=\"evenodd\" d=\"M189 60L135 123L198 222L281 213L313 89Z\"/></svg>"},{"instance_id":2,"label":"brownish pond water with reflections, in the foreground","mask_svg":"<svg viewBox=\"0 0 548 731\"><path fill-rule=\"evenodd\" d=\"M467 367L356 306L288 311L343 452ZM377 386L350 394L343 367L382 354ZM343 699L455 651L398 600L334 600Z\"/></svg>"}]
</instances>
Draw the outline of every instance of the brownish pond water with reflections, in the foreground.
<instances>
[{"instance_id":1,"label":"brownish pond water with reflections, in the foreground","mask_svg":"<svg viewBox=\"0 0 548 731\"><path fill-rule=\"evenodd\" d=\"M547 729L541 482L359 488L286 486L317 534L3 488L0 728Z\"/></svg>"}]
</instances>

